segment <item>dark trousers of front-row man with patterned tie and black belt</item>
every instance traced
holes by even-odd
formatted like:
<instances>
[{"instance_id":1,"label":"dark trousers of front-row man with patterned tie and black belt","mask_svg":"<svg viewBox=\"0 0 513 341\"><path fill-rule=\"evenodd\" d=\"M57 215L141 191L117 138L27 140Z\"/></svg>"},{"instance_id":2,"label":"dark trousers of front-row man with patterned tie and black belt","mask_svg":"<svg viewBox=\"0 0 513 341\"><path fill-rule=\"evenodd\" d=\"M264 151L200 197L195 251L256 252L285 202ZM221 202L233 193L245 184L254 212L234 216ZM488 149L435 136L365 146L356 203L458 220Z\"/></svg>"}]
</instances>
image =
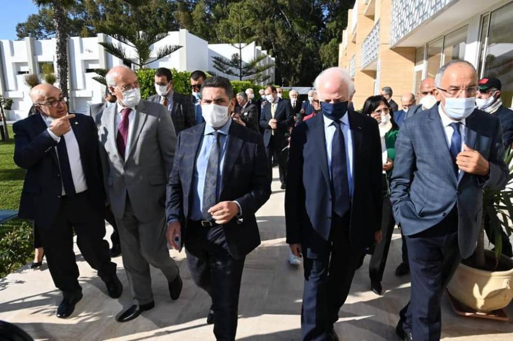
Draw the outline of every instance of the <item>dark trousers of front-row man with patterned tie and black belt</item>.
<instances>
[{"instance_id":1,"label":"dark trousers of front-row man with patterned tie and black belt","mask_svg":"<svg viewBox=\"0 0 513 341\"><path fill-rule=\"evenodd\" d=\"M208 228L189 220L186 233L185 250L192 280L212 298L215 338L232 341L237 331L245 258L230 255L223 226Z\"/></svg>"}]
</instances>

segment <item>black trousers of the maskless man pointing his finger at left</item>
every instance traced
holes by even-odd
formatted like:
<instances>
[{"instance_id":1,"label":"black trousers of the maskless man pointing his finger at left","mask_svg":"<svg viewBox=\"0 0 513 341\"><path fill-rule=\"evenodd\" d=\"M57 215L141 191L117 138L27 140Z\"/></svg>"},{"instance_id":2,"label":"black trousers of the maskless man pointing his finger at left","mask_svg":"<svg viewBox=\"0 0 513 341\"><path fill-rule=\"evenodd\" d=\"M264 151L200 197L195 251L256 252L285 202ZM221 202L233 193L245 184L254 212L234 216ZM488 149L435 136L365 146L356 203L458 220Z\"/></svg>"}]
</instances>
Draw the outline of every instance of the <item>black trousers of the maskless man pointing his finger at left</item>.
<instances>
[{"instance_id":1,"label":"black trousers of the maskless man pointing his finger at left","mask_svg":"<svg viewBox=\"0 0 513 341\"><path fill-rule=\"evenodd\" d=\"M93 209L87 192L73 197L63 196L54 224L37 224L37 229L45 248L53 283L68 300L82 292L73 252L73 228L78 248L86 262L98 271L98 276L108 282L116 274L116 264L110 261L109 244L103 239L104 216Z\"/></svg>"}]
</instances>

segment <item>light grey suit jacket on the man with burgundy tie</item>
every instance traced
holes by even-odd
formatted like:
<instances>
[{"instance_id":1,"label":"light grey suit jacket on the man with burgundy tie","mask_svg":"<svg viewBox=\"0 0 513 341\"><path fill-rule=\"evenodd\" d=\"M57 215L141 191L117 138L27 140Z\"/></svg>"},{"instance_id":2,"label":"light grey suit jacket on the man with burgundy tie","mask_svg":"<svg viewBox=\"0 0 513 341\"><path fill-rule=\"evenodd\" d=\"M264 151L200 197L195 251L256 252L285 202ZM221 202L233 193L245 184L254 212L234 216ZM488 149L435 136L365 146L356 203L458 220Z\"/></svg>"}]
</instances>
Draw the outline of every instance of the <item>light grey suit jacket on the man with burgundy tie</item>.
<instances>
[{"instance_id":1,"label":"light grey suit jacket on the man with burgundy tie","mask_svg":"<svg viewBox=\"0 0 513 341\"><path fill-rule=\"evenodd\" d=\"M116 106L103 111L98 127L106 192L117 218L125 212L126 195L137 219L150 222L163 217L167 177L173 166L176 133L162 105L142 100L135 107L129 152L117 151Z\"/></svg>"}]
</instances>

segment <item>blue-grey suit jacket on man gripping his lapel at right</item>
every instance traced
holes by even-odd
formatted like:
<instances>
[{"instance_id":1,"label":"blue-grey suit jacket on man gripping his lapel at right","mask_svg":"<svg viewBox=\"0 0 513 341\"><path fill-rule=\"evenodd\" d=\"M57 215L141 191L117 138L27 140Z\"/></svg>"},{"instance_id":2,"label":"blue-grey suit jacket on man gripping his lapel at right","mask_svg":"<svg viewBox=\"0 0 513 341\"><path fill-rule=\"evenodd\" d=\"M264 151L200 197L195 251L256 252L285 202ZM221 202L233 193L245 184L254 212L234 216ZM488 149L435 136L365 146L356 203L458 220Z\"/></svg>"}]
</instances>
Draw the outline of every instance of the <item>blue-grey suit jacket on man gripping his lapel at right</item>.
<instances>
[{"instance_id":1,"label":"blue-grey suit jacket on man gripping his lapel at right","mask_svg":"<svg viewBox=\"0 0 513 341\"><path fill-rule=\"evenodd\" d=\"M450 156L438 106L405 120L396 141L390 200L396 222L410 236L441 222L457 205L463 258L476 248L483 213L483 188L501 190L508 180L502 128L497 117L474 110L465 120L465 144L490 163L488 176L460 171Z\"/></svg>"}]
</instances>

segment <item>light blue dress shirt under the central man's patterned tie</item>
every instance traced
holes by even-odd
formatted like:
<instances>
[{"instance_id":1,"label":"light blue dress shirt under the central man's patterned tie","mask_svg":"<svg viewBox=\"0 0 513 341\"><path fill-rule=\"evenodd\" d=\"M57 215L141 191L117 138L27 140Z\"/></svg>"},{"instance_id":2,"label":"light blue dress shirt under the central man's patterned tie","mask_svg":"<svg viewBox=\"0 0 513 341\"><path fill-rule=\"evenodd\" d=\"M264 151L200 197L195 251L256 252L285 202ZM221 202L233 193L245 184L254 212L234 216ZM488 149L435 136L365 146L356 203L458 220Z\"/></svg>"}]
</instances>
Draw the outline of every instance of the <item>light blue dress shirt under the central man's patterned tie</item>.
<instances>
[{"instance_id":1,"label":"light blue dress shirt under the central man's patterned tie","mask_svg":"<svg viewBox=\"0 0 513 341\"><path fill-rule=\"evenodd\" d=\"M220 161L219 161L219 173L218 173L218 187L216 196L219 200L221 192L221 184L223 180L223 166L224 158L226 154L226 146L228 145L228 132L230 131L231 118L228 118L228 122L218 129L218 133L221 133L219 137L220 145ZM192 220L203 220L202 205L203 205L203 187L205 186L205 173L207 171L208 157L210 156L210 150L215 144L215 137L213 132L216 130L208 125L205 125L205 131L203 133L203 139L201 146L196 157L196 163L194 172L192 174L192 207L189 214L189 218Z\"/></svg>"}]
</instances>

